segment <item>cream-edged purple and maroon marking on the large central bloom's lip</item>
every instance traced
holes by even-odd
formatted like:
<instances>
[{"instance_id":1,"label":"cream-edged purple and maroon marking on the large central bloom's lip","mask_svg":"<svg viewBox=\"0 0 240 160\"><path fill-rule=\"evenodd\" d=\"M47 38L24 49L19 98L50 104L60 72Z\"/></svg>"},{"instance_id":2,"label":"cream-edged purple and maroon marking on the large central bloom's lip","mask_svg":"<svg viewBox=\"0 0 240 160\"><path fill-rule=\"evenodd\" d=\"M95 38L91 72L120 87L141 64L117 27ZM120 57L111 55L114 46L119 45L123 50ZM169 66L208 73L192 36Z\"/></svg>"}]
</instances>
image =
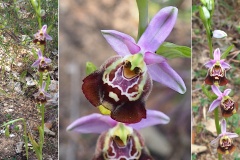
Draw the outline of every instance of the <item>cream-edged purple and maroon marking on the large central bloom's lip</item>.
<instances>
[{"instance_id":1,"label":"cream-edged purple and maroon marking on the large central bloom's lip","mask_svg":"<svg viewBox=\"0 0 240 160\"><path fill-rule=\"evenodd\" d=\"M135 101L141 96L148 75L145 68L135 67L130 70L130 67L131 62L118 59L106 68L102 80L104 84L118 88L121 95L125 95L129 101Z\"/></svg>"}]
</instances>

